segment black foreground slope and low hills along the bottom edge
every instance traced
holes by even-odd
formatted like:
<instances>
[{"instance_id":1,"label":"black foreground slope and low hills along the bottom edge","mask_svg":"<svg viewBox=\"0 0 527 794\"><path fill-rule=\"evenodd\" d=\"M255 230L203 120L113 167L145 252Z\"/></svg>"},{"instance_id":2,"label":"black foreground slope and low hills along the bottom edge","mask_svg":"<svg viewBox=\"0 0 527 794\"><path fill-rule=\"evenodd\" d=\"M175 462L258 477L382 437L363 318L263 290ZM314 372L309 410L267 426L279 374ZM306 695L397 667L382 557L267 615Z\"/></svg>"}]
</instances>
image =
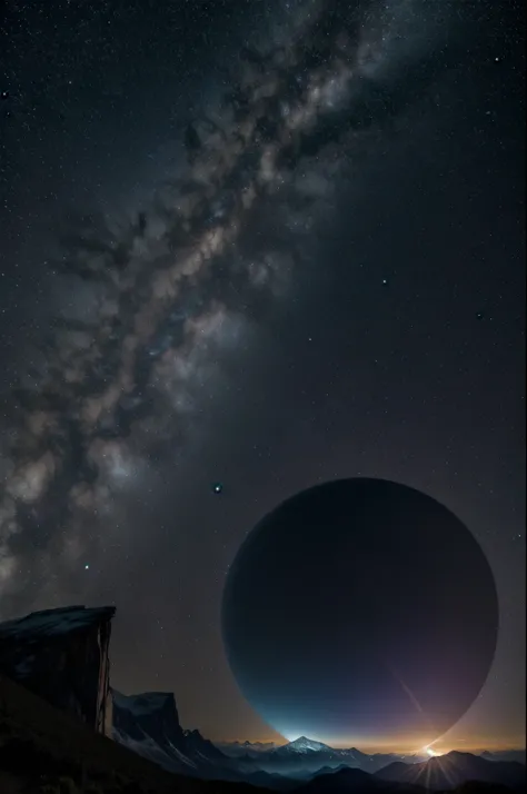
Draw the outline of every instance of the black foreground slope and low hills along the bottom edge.
<instances>
[{"instance_id":1,"label":"black foreground slope and low hills along the bottom edge","mask_svg":"<svg viewBox=\"0 0 527 794\"><path fill-rule=\"evenodd\" d=\"M280 752L291 748L295 743ZM523 764L463 753L395 762L374 774L325 767L309 782L262 774L268 788L169 772L0 674L0 794L507 794L525 783Z\"/></svg>"}]
</instances>

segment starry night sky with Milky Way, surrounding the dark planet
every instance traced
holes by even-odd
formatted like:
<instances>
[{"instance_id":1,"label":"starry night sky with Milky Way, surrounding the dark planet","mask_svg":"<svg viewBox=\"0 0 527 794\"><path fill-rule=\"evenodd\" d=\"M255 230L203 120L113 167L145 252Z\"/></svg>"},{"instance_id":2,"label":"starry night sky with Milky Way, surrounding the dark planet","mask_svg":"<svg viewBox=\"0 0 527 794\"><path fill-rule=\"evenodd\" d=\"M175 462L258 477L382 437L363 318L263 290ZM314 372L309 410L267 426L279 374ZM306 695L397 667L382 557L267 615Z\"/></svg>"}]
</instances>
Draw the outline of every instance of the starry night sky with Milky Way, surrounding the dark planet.
<instances>
[{"instance_id":1,"label":"starry night sky with Milky Way, surrounding the dark planet","mask_svg":"<svg viewBox=\"0 0 527 794\"><path fill-rule=\"evenodd\" d=\"M513 0L7 0L1 618L115 603L117 688L276 738L226 573L287 496L385 477L496 576L445 746L525 746L521 31Z\"/></svg>"}]
</instances>

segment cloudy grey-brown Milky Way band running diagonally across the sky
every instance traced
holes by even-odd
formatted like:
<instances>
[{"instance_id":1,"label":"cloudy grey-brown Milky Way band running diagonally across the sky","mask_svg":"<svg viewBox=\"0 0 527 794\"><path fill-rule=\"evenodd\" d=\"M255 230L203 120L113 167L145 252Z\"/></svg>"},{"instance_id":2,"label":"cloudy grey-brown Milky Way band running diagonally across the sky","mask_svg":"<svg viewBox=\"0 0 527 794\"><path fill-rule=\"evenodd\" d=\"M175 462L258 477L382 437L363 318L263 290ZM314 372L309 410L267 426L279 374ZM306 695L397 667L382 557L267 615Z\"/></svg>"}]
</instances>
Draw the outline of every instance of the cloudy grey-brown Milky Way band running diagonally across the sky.
<instances>
[{"instance_id":1,"label":"cloudy grey-brown Milky Way band running diagonally across the sky","mask_svg":"<svg viewBox=\"0 0 527 794\"><path fill-rule=\"evenodd\" d=\"M87 522L148 476L222 351L301 278L335 173L411 101L406 83L376 79L411 17L408 2L390 8L312 4L287 46L241 53L222 112L188 127L187 168L150 208L121 228L66 224L52 262L63 305L1 428L1 596L24 586L22 538L41 559L79 557Z\"/></svg>"}]
</instances>

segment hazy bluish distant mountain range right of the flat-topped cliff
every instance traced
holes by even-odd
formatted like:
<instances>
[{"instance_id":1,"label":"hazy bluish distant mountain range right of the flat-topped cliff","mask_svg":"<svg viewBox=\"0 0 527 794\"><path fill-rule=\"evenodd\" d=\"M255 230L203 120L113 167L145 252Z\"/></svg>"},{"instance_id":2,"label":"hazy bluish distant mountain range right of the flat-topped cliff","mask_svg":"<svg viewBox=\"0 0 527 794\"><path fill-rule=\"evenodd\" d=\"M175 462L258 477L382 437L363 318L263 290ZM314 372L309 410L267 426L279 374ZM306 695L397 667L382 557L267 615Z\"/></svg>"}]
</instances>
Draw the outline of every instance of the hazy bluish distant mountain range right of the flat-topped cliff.
<instances>
[{"instance_id":1,"label":"hazy bluish distant mountain range right of the flat-topped cliff","mask_svg":"<svg viewBox=\"0 0 527 794\"><path fill-rule=\"evenodd\" d=\"M335 748L306 736L279 746L245 742L220 750L198 731L183 731L173 695L163 693L133 697L113 693L113 726L116 741L173 772L298 794L374 788L445 792L470 781L519 791L525 784L525 765L488 752L454 751L422 761L416 755Z\"/></svg>"}]
</instances>

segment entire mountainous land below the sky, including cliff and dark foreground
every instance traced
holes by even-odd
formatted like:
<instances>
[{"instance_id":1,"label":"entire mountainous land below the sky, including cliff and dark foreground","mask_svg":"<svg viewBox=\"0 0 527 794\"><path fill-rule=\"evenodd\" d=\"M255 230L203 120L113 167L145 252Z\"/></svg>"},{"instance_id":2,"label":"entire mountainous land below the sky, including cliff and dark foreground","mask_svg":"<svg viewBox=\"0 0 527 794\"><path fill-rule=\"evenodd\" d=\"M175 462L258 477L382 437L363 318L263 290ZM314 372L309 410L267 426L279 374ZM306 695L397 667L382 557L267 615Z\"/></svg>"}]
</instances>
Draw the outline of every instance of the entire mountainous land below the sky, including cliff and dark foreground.
<instances>
[{"instance_id":1,"label":"entire mountainous land below the sky, including cliff and dark foreground","mask_svg":"<svg viewBox=\"0 0 527 794\"><path fill-rule=\"evenodd\" d=\"M98 794L475 794L481 786L490 794L525 785L525 751L425 758L306 736L216 745L181 726L172 693L126 695L110 686L113 612L76 606L0 624L1 794L40 794L43 782L62 791L64 774L68 791L95 781Z\"/></svg>"}]
</instances>

